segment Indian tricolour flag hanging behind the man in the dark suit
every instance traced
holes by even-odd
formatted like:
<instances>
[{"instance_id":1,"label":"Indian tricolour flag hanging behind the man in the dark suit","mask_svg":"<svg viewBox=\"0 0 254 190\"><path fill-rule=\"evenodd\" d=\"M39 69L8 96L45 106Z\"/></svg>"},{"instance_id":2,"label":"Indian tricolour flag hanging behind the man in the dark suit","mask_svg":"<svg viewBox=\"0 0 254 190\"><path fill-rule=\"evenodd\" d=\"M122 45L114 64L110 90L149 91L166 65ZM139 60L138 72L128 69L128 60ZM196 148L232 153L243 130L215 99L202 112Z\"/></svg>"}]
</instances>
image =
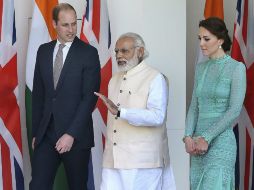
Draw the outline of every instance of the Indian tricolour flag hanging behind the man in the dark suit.
<instances>
[{"instance_id":1,"label":"Indian tricolour flag hanging behind the man in the dark suit","mask_svg":"<svg viewBox=\"0 0 254 190\"><path fill-rule=\"evenodd\" d=\"M34 67L39 46L56 39L56 32L52 25L52 9L58 4L58 0L35 0L29 36L27 61L26 61L26 123L28 131L28 144L30 156L32 155L32 114L31 96L33 90ZM54 189L67 189L67 181L61 166L56 176Z\"/></svg>"}]
</instances>

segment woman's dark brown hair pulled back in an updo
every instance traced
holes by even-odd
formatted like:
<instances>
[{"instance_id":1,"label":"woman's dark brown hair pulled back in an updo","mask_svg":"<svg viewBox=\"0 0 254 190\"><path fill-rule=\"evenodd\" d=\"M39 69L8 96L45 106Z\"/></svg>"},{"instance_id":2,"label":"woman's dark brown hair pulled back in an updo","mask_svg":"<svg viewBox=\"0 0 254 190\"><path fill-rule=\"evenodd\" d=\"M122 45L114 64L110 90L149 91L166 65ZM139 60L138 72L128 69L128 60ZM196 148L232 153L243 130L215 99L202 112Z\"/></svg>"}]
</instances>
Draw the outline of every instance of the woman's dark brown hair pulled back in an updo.
<instances>
[{"instance_id":1,"label":"woman's dark brown hair pulled back in an updo","mask_svg":"<svg viewBox=\"0 0 254 190\"><path fill-rule=\"evenodd\" d=\"M225 22L218 17L209 17L205 20L199 22L199 27L203 27L218 39L224 40L224 43L221 45L224 51L229 51L231 47L231 39L228 35L228 30Z\"/></svg>"}]
</instances>

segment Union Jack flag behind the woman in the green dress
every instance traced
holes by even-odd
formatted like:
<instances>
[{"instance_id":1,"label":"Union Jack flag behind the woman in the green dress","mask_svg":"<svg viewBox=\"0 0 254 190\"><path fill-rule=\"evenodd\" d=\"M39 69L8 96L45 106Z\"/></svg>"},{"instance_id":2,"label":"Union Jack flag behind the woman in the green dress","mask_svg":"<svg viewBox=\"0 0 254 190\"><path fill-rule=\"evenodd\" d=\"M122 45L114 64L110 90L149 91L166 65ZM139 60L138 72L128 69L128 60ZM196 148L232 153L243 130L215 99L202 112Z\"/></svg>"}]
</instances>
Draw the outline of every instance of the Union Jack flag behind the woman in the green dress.
<instances>
[{"instance_id":1,"label":"Union Jack flag behind the woman in the green dress","mask_svg":"<svg viewBox=\"0 0 254 190\"><path fill-rule=\"evenodd\" d=\"M238 141L236 189L254 190L254 0L238 0L232 57L245 63L247 91L235 134Z\"/></svg>"}]
</instances>

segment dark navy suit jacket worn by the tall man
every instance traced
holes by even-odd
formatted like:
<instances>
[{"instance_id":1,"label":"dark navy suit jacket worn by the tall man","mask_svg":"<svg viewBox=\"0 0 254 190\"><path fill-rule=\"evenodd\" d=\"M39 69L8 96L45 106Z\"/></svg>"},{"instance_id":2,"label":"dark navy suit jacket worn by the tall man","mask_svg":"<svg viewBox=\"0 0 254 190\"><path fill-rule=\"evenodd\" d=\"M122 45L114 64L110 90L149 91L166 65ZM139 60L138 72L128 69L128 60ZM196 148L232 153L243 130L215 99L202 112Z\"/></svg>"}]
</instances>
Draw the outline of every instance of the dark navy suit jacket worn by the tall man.
<instances>
[{"instance_id":1,"label":"dark navy suit jacket worn by the tall man","mask_svg":"<svg viewBox=\"0 0 254 190\"><path fill-rule=\"evenodd\" d=\"M84 148L94 146L92 112L100 87L97 50L75 37L57 84L53 84L56 40L39 47L32 92L32 134L39 144L53 116L57 138L67 133Z\"/></svg>"}]
</instances>

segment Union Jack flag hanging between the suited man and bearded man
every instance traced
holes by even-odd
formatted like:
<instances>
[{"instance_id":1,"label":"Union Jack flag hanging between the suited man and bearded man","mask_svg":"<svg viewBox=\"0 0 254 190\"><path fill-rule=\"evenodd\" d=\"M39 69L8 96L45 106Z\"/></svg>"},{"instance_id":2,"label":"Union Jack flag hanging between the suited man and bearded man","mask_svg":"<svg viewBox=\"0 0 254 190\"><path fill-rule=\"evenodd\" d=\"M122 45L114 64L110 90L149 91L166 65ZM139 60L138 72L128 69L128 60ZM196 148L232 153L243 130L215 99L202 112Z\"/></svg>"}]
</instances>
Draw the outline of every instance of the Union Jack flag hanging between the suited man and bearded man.
<instances>
[{"instance_id":1,"label":"Union Jack flag hanging between the suited man and bearded man","mask_svg":"<svg viewBox=\"0 0 254 190\"><path fill-rule=\"evenodd\" d=\"M112 76L111 34L106 0L87 0L86 12L82 20L80 38L97 48L101 63L100 92L107 96L108 82ZM93 112L95 147L90 162L89 188L99 189L102 171L102 153L107 123L107 108L98 100ZM95 176L95 177L93 177Z\"/></svg>"}]
</instances>

